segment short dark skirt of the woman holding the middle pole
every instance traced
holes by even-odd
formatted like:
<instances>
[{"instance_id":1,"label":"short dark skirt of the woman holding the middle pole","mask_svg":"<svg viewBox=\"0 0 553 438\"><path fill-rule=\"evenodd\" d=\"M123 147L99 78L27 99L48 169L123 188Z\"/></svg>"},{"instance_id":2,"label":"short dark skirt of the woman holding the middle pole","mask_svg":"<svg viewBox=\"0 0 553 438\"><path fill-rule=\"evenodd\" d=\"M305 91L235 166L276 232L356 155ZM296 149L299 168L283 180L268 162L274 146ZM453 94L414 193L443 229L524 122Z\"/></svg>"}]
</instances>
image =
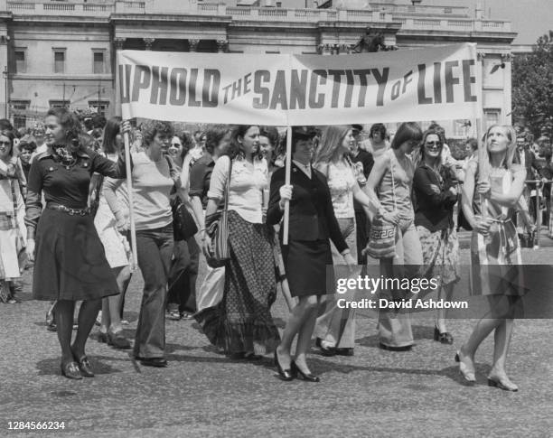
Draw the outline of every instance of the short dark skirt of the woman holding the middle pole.
<instances>
[{"instance_id":1,"label":"short dark skirt of the woman holding the middle pole","mask_svg":"<svg viewBox=\"0 0 553 438\"><path fill-rule=\"evenodd\" d=\"M326 266L333 265L328 240L289 240L282 257L292 296L326 294Z\"/></svg>"}]
</instances>

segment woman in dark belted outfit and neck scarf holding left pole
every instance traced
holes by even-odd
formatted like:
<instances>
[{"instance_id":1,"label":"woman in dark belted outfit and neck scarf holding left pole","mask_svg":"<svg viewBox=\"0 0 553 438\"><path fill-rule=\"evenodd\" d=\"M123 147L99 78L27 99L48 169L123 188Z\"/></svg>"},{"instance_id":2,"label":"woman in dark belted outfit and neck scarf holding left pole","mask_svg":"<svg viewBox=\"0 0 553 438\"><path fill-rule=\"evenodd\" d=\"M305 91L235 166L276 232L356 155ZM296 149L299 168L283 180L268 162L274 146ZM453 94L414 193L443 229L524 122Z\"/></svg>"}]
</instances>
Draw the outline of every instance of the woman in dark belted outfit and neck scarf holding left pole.
<instances>
[{"instance_id":1,"label":"woman in dark belted outfit and neck scarf holding left pole","mask_svg":"<svg viewBox=\"0 0 553 438\"><path fill-rule=\"evenodd\" d=\"M35 259L33 297L57 301L61 374L94 377L85 343L101 298L118 294L118 288L87 208L89 182L93 172L125 177L125 163L120 158L113 163L83 148L79 119L67 108L50 109L45 125L48 150L33 161L26 201L27 254ZM42 191L46 200L43 211ZM77 337L71 345L76 301L83 303Z\"/></svg>"}]
</instances>

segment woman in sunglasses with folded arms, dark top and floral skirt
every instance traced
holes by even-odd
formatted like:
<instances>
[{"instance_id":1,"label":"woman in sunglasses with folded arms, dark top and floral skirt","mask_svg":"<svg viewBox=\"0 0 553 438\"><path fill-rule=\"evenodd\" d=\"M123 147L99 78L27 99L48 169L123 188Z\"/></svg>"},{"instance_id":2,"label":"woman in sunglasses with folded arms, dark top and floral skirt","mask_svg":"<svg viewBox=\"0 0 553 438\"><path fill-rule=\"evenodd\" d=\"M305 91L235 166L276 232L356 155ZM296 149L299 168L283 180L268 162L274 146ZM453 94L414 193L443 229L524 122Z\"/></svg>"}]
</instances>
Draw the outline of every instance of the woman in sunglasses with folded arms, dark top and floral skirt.
<instances>
[{"instance_id":1,"label":"woman in sunglasses with folded arms, dark top and floral skirt","mask_svg":"<svg viewBox=\"0 0 553 438\"><path fill-rule=\"evenodd\" d=\"M459 280L459 241L453 219L454 206L459 196L455 187L455 174L442 163L443 148L444 138L438 130L428 129L423 134L413 193L415 226L426 274L441 279L438 300L449 300ZM438 309L434 340L453 343L453 337L445 328L445 309Z\"/></svg>"}]
</instances>

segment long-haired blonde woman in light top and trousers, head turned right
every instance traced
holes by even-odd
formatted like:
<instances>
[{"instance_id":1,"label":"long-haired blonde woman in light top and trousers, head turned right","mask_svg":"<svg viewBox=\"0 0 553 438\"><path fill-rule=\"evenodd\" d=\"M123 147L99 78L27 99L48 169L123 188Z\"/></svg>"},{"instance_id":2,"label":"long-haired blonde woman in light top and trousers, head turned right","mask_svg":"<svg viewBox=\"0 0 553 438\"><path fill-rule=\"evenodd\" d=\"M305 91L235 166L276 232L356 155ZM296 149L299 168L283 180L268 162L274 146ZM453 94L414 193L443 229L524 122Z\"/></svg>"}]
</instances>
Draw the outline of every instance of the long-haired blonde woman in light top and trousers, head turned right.
<instances>
[{"instance_id":1,"label":"long-haired blonde woman in light top and trousers, head turned right","mask_svg":"<svg viewBox=\"0 0 553 438\"><path fill-rule=\"evenodd\" d=\"M333 210L350 248L351 256L357 260L357 232L353 199L357 200L369 214L370 200L361 191L355 178L349 158L351 144L355 141L351 126L327 126L321 137L321 144L314 156L314 167L326 176L330 189ZM332 246L333 263L342 264L342 255ZM328 297L324 312L315 326L316 343L323 354L352 356L355 347L355 310L341 308L338 300L342 295Z\"/></svg>"}]
</instances>

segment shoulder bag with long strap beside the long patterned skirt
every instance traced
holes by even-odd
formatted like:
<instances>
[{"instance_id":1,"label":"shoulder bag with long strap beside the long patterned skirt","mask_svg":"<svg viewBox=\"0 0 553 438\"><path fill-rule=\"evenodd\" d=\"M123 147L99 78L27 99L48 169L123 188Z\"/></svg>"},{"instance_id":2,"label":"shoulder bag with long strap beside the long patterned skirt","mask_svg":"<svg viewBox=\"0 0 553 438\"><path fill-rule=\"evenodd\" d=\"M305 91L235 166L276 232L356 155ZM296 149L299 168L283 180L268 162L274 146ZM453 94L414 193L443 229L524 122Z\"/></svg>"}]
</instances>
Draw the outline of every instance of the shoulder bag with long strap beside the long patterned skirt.
<instances>
[{"instance_id":1,"label":"shoulder bag with long strap beside the long patterned skirt","mask_svg":"<svg viewBox=\"0 0 553 438\"><path fill-rule=\"evenodd\" d=\"M217 211L205 218L205 231L211 238L211 256L206 256L210 267L225 266L230 259L229 245L229 187L232 173L232 160L229 165L229 175L224 191L223 210Z\"/></svg>"}]
</instances>

